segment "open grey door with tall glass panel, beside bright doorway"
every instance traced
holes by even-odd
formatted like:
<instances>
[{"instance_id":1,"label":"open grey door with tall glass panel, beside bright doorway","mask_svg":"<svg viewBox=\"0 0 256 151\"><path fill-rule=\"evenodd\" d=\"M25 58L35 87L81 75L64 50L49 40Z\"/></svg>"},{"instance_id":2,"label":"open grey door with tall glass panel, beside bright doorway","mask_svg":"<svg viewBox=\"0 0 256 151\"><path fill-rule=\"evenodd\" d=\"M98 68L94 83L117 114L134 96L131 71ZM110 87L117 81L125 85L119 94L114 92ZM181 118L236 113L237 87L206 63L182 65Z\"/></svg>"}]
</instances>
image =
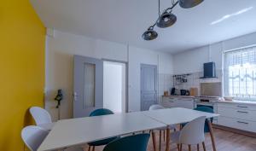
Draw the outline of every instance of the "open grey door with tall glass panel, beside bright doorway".
<instances>
[{"instance_id":1,"label":"open grey door with tall glass panel, beside bright doorway","mask_svg":"<svg viewBox=\"0 0 256 151\"><path fill-rule=\"evenodd\" d=\"M103 107L103 61L74 55L73 117Z\"/></svg>"}]
</instances>

